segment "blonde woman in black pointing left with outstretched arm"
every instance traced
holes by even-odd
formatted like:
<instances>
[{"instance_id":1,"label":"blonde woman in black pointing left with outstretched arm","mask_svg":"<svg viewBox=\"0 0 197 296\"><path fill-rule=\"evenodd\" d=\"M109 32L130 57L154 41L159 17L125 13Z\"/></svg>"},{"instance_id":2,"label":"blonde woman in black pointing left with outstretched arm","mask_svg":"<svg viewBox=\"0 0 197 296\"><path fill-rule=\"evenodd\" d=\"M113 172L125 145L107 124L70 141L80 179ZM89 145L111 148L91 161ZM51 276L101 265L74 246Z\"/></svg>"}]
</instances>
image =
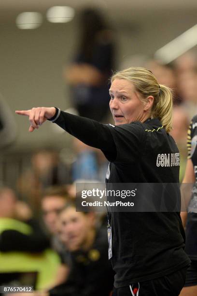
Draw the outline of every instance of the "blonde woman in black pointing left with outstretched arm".
<instances>
[{"instance_id":1,"label":"blonde woman in black pointing left with outstretched arm","mask_svg":"<svg viewBox=\"0 0 197 296\"><path fill-rule=\"evenodd\" d=\"M57 108L16 111L30 120L29 132L46 119L56 122L85 144L99 148L110 161L107 183L178 183L179 162L165 165L161 158L179 156L169 135L172 94L144 68L113 75L110 109L115 126L100 124ZM115 271L113 295L178 296L190 263L184 230L177 212L110 212L109 257Z\"/></svg>"}]
</instances>

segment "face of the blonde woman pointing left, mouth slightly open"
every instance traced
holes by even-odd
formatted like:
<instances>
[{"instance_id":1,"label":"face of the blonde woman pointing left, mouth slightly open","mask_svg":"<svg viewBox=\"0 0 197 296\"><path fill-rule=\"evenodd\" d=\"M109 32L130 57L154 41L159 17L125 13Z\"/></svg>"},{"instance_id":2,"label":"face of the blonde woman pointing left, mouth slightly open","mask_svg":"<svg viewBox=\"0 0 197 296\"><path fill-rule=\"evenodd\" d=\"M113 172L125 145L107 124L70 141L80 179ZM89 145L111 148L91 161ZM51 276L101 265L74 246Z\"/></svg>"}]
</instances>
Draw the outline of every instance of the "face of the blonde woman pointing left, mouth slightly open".
<instances>
[{"instance_id":1,"label":"face of the blonde woman pointing left, mouth slightly open","mask_svg":"<svg viewBox=\"0 0 197 296\"><path fill-rule=\"evenodd\" d=\"M110 88L110 110L115 125L142 121L145 116L144 104L132 82L114 79Z\"/></svg>"}]
</instances>

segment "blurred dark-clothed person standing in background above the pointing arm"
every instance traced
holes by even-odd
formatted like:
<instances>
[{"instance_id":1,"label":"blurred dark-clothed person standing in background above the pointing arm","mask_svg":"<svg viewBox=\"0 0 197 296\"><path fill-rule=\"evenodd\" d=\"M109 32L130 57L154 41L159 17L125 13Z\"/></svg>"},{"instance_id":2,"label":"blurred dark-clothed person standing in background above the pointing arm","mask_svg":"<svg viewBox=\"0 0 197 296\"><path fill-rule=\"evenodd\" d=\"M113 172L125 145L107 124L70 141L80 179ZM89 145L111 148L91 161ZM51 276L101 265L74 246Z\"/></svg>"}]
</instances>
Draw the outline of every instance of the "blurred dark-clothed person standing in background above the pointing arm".
<instances>
[{"instance_id":1,"label":"blurred dark-clothed person standing in background above the pointing arm","mask_svg":"<svg viewBox=\"0 0 197 296\"><path fill-rule=\"evenodd\" d=\"M65 72L72 102L80 116L102 121L108 114L109 77L113 69L113 37L102 15L85 9L80 15L81 41Z\"/></svg>"}]
</instances>

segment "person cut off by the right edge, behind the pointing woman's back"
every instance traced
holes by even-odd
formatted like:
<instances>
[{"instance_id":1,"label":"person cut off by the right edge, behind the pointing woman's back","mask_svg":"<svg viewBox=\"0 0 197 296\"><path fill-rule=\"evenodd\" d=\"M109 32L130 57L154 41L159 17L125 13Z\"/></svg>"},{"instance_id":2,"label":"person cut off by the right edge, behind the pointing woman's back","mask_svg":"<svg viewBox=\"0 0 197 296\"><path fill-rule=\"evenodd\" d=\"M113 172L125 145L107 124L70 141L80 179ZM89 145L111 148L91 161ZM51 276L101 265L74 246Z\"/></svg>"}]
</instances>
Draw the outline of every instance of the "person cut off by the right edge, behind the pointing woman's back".
<instances>
[{"instance_id":1,"label":"person cut off by the right edge, behind the pointing woman's back","mask_svg":"<svg viewBox=\"0 0 197 296\"><path fill-rule=\"evenodd\" d=\"M185 251L191 259L191 266L187 270L186 281L181 296L197 295L197 116L192 118L187 136L188 160L183 178L182 188L191 198L188 206L188 213L182 212L183 225L186 226L186 246ZM185 184L184 184L185 183ZM194 184L192 194L188 190ZM191 196L192 195L192 196ZM186 200L187 201L187 200ZM187 202L186 202L187 203Z\"/></svg>"}]
</instances>

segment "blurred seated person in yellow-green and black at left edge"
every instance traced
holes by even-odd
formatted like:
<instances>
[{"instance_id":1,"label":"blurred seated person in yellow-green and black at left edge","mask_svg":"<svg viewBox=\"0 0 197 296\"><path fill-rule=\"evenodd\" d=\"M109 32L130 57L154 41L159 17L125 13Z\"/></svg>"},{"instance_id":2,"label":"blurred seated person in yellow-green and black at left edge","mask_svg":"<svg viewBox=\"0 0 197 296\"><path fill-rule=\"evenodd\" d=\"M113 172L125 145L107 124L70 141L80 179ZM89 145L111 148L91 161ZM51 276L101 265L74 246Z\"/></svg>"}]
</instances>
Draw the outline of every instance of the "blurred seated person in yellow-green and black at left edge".
<instances>
[{"instance_id":1,"label":"blurred seated person in yellow-green and black at left edge","mask_svg":"<svg viewBox=\"0 0 197 296\"><path fill-rule=\"evenodd\" d=\"M0 285L49 286L59 258L48 248L49 239L28 206L10 188L0 188Z\"/></svg>"}]
</instances>

